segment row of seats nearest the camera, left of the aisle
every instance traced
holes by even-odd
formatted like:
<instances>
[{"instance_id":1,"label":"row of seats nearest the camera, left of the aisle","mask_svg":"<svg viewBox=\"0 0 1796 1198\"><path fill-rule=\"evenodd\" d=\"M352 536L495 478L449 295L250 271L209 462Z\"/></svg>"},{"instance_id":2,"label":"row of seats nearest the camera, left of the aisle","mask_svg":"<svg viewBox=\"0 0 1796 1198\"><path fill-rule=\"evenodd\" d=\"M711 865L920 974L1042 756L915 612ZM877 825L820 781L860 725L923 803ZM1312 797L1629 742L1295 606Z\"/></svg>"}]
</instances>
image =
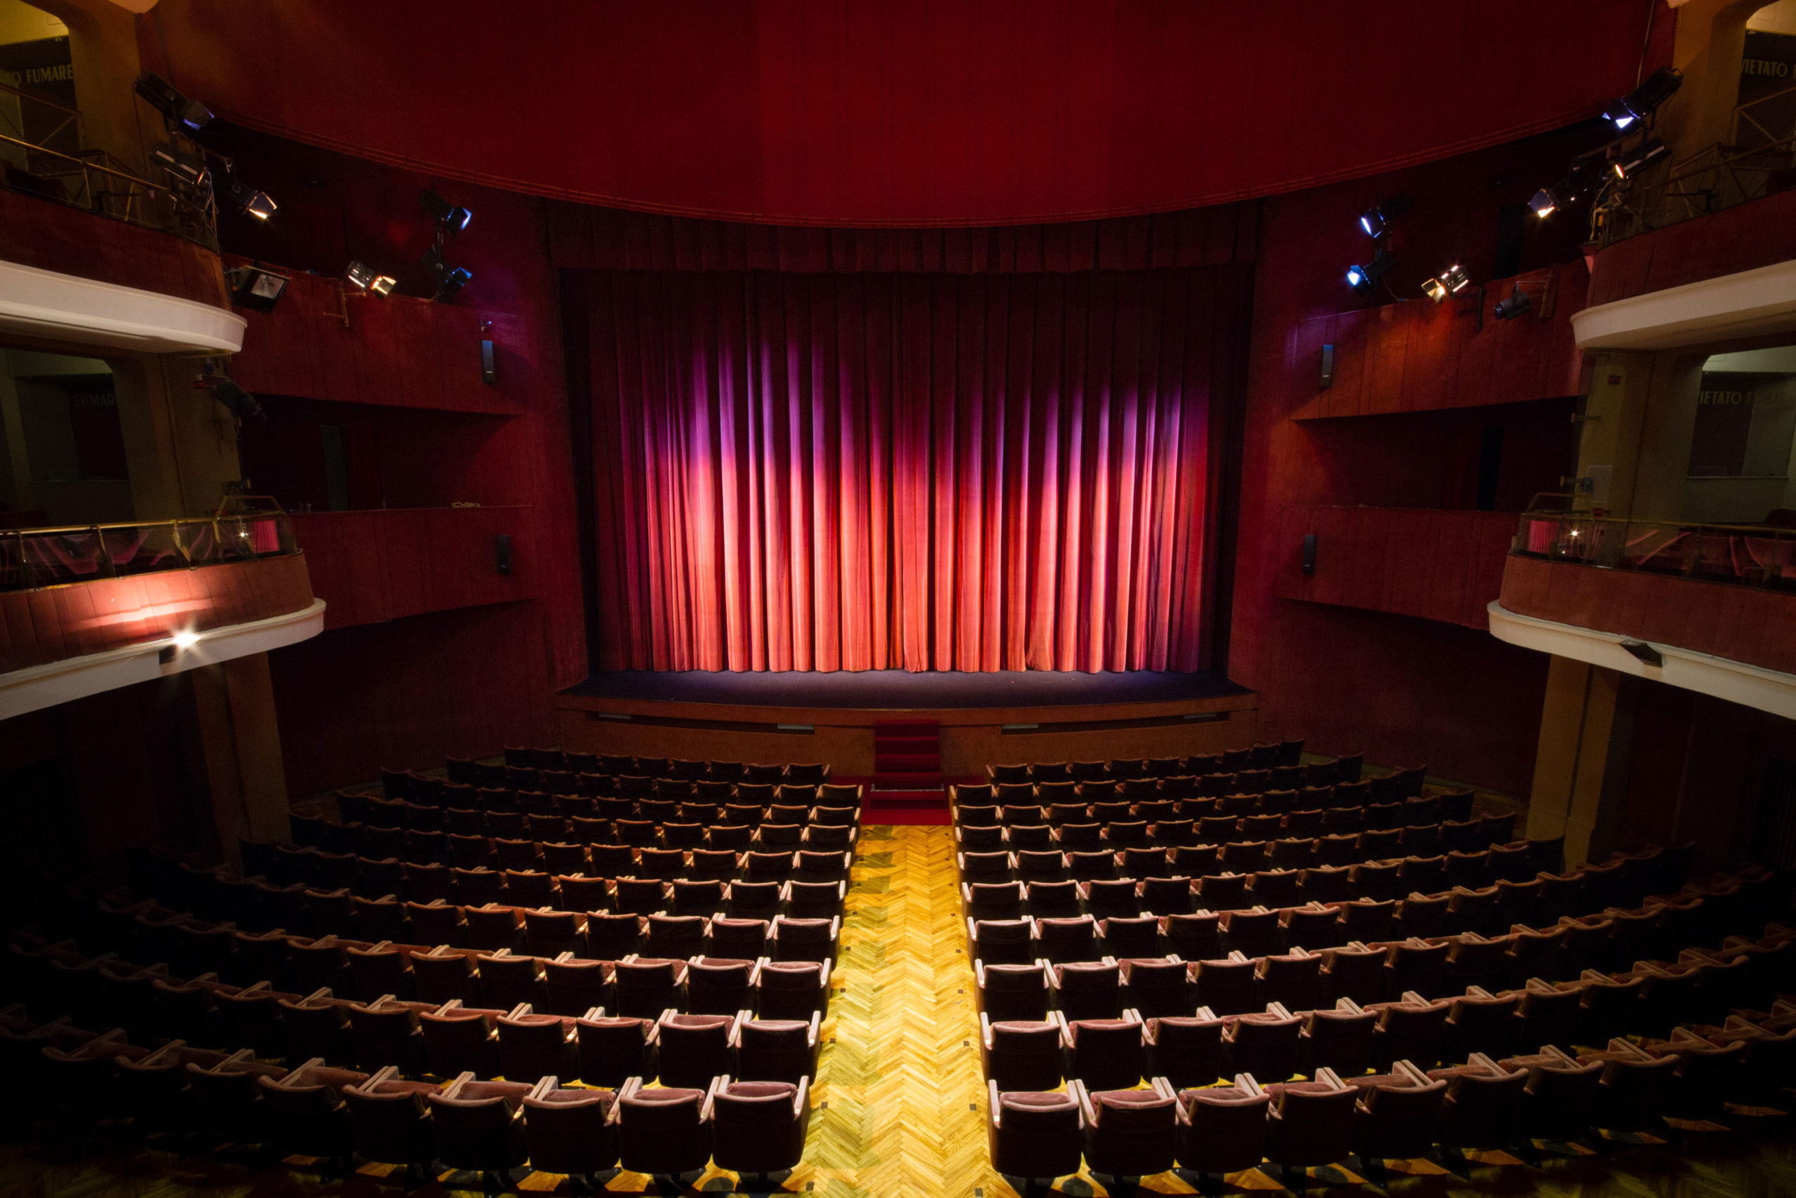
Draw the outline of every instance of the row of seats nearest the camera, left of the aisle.
<instances>
[{"instance_id":1,"label":"row of seats nearest the camera, left of the aisle","mask_svg":"<svg viewBox=\"0 0 1796 1198\"><path fill-rule=\"evenodd\" d=\"M192 1141L268 1144L332 1162L339 1171L368 1162L401 1166L411 1182L442 1167L480 1173L489 1187L526 1166L585 1178L612 1167L679 1178L708 1164L765 1176L796 1166L810 1124L810 1083L740 1081L715 1076L695 1087L645 1087L630 1076L618 1088L571 1088L560 1078L481 1081L462 1072L445 1081L406 1078L307 1060L295 1069L169 1042L129 1044L117 1031L95 1035L56 1020L32 1024L18 1008L0 1011L11 1074L48 1096L47 1110L77 1128L129 1121L145 1133ZM32 1051L36 1049L36 1051ZM16 1088L16 1087L13 1087Z\"/></svg>"}]
</instances>

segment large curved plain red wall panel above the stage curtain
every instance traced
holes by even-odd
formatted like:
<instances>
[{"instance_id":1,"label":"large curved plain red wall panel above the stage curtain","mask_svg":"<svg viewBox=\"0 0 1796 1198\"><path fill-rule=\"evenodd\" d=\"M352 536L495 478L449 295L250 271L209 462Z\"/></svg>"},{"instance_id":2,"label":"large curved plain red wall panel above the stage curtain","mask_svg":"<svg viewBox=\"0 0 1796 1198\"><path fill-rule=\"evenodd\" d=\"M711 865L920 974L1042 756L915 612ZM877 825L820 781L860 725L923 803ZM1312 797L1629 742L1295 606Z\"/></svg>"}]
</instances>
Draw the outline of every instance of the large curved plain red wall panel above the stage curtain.
<instances>
[{"instance_id":1,"label":"large curved plain red wall panel above the stage curtain","mask_svg":"<svg viewBox=\"0 0 1796 1198\"><path fill-rule=\"evenodd\" d=\"M1654 16L1651 70L1674 20L1640 0L163 0L138 41L241 124L442 178L934 226L1202 207L1559 128L1634 84ZM469 86L494 77L499 102Z\"/></svg>"}]
</instances>

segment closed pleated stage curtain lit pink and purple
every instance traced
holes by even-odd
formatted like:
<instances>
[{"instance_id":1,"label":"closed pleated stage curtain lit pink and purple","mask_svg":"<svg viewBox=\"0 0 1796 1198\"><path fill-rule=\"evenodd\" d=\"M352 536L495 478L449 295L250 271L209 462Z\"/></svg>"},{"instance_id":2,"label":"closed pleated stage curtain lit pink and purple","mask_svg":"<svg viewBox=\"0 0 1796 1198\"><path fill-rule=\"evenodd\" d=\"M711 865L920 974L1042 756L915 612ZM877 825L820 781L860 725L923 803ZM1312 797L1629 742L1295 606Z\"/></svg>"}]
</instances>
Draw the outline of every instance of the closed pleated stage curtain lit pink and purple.
<instances>
[{"instance_id":1,"label":"closed pleated stage curtain lit pink and purple","mask_svg":"<svg viewBox=\"0 0 1796 1198\"><path fill-rule=\"evenodd\" d=\"M587 271L607 670L1198 670L1246 275Z\"/></svg>"}]
</instances>

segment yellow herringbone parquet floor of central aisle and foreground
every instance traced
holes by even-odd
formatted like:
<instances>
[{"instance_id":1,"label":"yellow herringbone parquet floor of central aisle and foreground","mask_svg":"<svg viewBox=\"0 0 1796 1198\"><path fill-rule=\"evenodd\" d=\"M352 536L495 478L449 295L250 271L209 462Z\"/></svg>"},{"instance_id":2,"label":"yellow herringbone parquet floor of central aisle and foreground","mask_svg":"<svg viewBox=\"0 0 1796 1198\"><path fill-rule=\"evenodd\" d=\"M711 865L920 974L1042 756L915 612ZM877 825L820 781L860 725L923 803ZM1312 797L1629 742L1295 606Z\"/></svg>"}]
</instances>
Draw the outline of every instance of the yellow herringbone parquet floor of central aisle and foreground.
<instances>
[{"instance_id":1,"label":"yellow herringbone parquet floor of central aisle and foreground","mask_svg":"<svg viewBox=\"0 0 1796 1198\"><path fill-rule=\"evenodd\" d=\"M1009 1198L1011 1187L986 1158L984 1088L975 1045L972 968L955 896L952 832L932 826L869 826L864 832L837 991L824 1020L805 1164L779 1180L785 1191L830 1198ZM1631 1148L1550 1160L1545 1167L1478 1164L1462 1178L1433 1166L1392 1175L1385 1189L1334 1175L1311 1194L1392 1198L1773 1198L1796 1194L1791 1124L1749 1137L1706 1137L1683 1146ZM374 1169L321 1180L291 1167L246 1169L208 1158L174 1160L131 1150L74 1155L63 1146L0 1150L0 1198L397 1198ZM413 1191L444 1198L449 1176ZM1232 1178L1237 1189L1281 1189L1266 1175ZM1345 1182L1345 1184L1343 1184ZM735 1178L711 1169L704 1194L735 1193ZM530 1194L568 1194L566 1178L532 1175ZM620 1173L607 1193L654 1193L648 1178ZM1148 1193L1193 1193L1173 1176ZM465 1191L454 1191L462 1198ZM1087 1175L1058 1191L1105 1194Z\"/></svg>"}]
</instances>

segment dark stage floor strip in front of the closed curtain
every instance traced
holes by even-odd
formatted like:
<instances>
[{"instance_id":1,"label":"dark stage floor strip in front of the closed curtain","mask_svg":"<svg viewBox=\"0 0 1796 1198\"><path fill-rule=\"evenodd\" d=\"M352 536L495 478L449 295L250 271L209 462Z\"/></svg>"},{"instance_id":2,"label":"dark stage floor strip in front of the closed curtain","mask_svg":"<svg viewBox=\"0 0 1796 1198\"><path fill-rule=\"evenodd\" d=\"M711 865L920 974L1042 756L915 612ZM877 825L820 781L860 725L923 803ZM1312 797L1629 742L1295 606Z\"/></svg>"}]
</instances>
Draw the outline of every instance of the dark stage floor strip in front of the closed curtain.
<instances>
[{"instance_id":1,"label":"dark stage floor strip in front of the closed curtain","mask_svg":"<svg viewBox=\"0 0 1796 1198\"><path fill-rule=\"evenodd\" d=\"M772 708L1072 708L1114 702L1176 702L1248 693L1221 674L997 674L905 670L729 674L711 670L611 670L591 674L562 695Z\"/></svg>"}]
</instances>

